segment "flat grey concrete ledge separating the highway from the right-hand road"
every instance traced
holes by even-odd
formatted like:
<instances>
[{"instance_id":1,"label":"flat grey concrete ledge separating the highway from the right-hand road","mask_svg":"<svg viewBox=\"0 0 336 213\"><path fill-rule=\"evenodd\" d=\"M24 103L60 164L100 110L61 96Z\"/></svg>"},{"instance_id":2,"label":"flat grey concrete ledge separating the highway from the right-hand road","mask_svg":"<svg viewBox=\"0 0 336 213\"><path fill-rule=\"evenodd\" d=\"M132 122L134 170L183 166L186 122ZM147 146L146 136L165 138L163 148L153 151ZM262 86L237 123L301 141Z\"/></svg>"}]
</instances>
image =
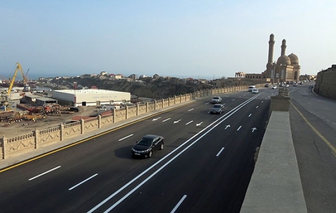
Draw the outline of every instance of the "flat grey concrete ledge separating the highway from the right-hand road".
<instances>
[{"instance_id":1,"label":"flat grey concrete ledge separating the highway from the right-hand road","mask_svg":"<svg viewBox=\"0 0 336 213\"><path fill-rule=\"evenodd\" d=\"M307 213L288 111L271 113L241 213Z\"/></svg>"}]
</instances>

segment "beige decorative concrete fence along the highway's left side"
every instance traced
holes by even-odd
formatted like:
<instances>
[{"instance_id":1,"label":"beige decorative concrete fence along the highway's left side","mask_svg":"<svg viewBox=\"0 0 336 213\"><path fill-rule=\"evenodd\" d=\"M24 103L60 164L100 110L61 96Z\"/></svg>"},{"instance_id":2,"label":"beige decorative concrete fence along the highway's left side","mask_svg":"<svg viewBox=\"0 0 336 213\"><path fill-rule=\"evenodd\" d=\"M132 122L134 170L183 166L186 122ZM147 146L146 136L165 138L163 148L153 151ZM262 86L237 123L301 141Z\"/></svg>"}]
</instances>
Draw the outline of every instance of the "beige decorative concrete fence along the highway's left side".
<instances>
[{"instance_id":1,"label":"beige decorative concrete fence along the highway's left side","mask_svg":"<svg viewBox=\"0 0 336 213\"><path fill-rule=\"evenodd\" d=\"M261 85L259 85L261 86ZM127 119L144 115L146 113L174 106L181 103L187 103L197 98L211 96L215 94L247 90L248 86L237 86L227 88L206 89L195 91L184 95L174 96L172 98L162 99L136 106L126 106L126 108L113 109L110 114L98 115L86 120L73 122L70 124L59 124L58 126L43 129L32 130L32 133L24 134L12 138L2 136L0 138L1 159L7 159L13 156L27 153L39 147L48 146L79 135L96 131L99 128L111 126L114 123L125 121Z\"/></svg>"}]
</instances>

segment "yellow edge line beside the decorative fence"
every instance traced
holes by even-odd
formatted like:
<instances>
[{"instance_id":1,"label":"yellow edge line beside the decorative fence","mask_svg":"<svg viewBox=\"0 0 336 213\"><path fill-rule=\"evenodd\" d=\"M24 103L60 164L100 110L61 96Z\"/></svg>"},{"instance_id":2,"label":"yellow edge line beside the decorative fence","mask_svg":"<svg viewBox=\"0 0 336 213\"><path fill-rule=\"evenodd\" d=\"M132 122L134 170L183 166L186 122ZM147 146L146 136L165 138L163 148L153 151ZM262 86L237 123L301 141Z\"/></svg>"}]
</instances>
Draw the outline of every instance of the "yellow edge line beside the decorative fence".
<instances>
[{"instance_id":1,"label":"yellow edge line beside the decorative fence","mask_svg":"<svg viewBox=\"0 0 336 213\"><path fill-rule=\"evenodd\" d=\"M58 148L58 149L56 149L56 150L53 150L53 151L47 152L47 153L45 153L45 154L39 155L39 156L34 157L34 158L32 158L32 159L24 160L24 161L22 161L22 162L20 162L20 163L17 163L17 164L15 164L15 165L13 165L13 166L9 166L9 167L6 167L5 169L0 170L0 173L1 173L1 172L4 172L4 171L7 171L7 170L10 170L10 169L13 169L13 168L15 168L15 167L18 167L18 166L20 166L20 165L26 164L26 163L31 162L31 161L33 161L33 160L37 160L37 159L43 158L43 157L45 157L45 156L51 155L51 154L56 153L56 152L58 152L58 151L61 151L61 150L63 150L63 149L67 149L67 148L69 148L69 147L75 146L75 145L77 145L77 144L79 144L79 143L86 142L86 141L91 140L91 139L93 139L93 138L96 138L96 137L105 135L105 134L107 134L107 133L113 132L113 131L115 131L115 130L121 129L121 128L125 127L125 126L129 126L129 125L131 125L131 124L135 124L135 123L137 123L137 122L140 122L140 121L149 119L149 118L151 118L151 117L160 115L160 114L162 114L162 113L164 113L164 112L168 112L168 111L171 111L171 110L173 110L173 109L180 108L180 107L182 107L182 106L187 106L187 105L189 105L189 104L191 104L191 103L199 102L199 101L201 101L201 100L193 101L193 102L187 103L187 104L185 104L185 105L176 106L176 107L173 107L173 108L171 108L171 109L167 109L167 110L165 110L165 111L155 113L155 114L150 115L150 116L148 116L148 117L139 119L139 120L137 120L137 121L133 121L133 122L131 122L131 123L129 123L129 124L125 124L125 125L116 127L116 128L114 128L114 129L108 130L108 131L106 131L106 132L100 133L100 134L98 134L98 135L91 136L90 138L86 138L86 139L80 140L80 141L78 141L78 142L74 142L74 143L72 143L72 144L63 146L63 147L61 147L61 148Z\"/></svg>"}]
</instances>

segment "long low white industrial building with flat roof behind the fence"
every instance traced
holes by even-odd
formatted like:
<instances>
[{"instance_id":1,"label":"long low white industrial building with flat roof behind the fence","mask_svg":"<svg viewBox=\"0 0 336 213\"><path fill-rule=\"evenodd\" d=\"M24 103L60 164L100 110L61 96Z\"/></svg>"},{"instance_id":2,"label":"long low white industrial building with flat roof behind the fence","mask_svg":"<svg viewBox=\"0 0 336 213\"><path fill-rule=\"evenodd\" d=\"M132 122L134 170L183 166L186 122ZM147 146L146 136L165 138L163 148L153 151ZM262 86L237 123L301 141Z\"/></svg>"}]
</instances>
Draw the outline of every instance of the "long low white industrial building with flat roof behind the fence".
<instances>
[{"instance_id":1,"label":"long low white industrial building with flat roof behind the fence","mask_svg":"<svg viewBox=\"0 0 336 213\"><path fill-rule=\"evenodd\" d=\"M53 98L57 99L58 103L71 106L100 106L130 102L131 93L105 89L64 89L54 90Z\"/></svg>"}]
</instances>

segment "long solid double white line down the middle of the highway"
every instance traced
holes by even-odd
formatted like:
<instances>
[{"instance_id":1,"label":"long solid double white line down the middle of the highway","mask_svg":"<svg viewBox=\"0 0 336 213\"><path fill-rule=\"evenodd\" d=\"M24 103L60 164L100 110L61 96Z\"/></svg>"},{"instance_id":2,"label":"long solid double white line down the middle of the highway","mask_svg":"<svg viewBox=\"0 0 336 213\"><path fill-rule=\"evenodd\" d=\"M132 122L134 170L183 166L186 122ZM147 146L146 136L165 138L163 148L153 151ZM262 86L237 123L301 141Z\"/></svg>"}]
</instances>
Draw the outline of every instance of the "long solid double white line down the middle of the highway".
<instances>
[{"instance_id":1,"label":"long solid double white line down the middle of the highway","mask_svg":"<svg viewBox=\"0 0 336 213\"><path fill-rule=\"evenodd\" d=\"M238 110L240 110L241 108L243 108L243 106L247 105L248 103L250 103L251 101L253 101L254 99L256 99L258 97L258 95L253 96L252 98L244 101L242 104L234 107L233 109L231 109L229 112L225 113L222 117L218 118L216 121L212 122L211 124L207 125L204 129L202 129L201 131L199 131L198 133L196 133L194 136L192 136L191 138L189 138L186 142L182 143L181 145L179 145L177 148L175 148L173 151L169 152L168 155L166 155L165 157L163 157L162 159L156 161L156 163L154 163L153 165L151 165L148 169L146 169L145 171L143 171L141 174L139 174L138 176L134 177L130 182L126 183L124 186L122 186L120 189L118 189L116 192L114 192L112 195L108 196L107 198L105 198L103 201L101 201L99 204L97 204L95 207L93 207L88 213L93 213L96 209L98 209L99 207L101 207L103 204L105 204L107 201L109 201L110 199L112 199L115 195L119 194L120 192L122 192L124 189L126 189L128 186L130 186L133 182L135 182L137 179L139 179L140 177L142 177L143 175L145 175L146 173L149 172L149 170L151 170L152 168L154 168L156 165L158 165L159 163L161 163L162 161L166 160L170 155L173 155L175 152L177 152L180 148L182 148L184 145L186 145L188 142L190 142L191 140L193 140L194 138L198 137L199 135L203 134L204 131L206 131L203 135L201 135L198 139L196 139L194 142L192 142L190 145L188 145L184 150L182 150L180 153L176 154L176 156L174 156L171 160L169 160L167 163L165 163L162 167L160 167L158 170L156 170L152 175L150 175L147 179L145 179L141 184L139 184L138 186L136 186L133 190L131 190L130 193L128 193L127 195L125 195L123 198L121 198L117 203L115 203L112 207L110 207L110 210L107 211L111 211L114 207L116 207L120 202L122 202L124 199L126 199L129 195L131 195L136 189L140 188L140 186L142 186L144 183L146 183L151 177L153 177L154 175L156 175L159 171L161 171L164 167L166 167L170 162L172 162L173 160L175 160L178 156L182 155L187 149L189 149L192 145L194 145L196 142L198 142L199 140L201 140L205 135L207 135L209 132L211 132L215 127L217 127L219 124L222 124L226 119L228 119L229 117L231 117L231 115L233 115L234 113L236 113ZM225 117L227 116L227 117ZM224 119L223 119L224 118ZM218 122L218 123L217 123ZM216 124L217 123L217 124ZM214 125L214 126L212 126ZM211 127L212 126L212 127ZM208 128L210 128L208 130Z\"/></svg>"}]
</instances>

